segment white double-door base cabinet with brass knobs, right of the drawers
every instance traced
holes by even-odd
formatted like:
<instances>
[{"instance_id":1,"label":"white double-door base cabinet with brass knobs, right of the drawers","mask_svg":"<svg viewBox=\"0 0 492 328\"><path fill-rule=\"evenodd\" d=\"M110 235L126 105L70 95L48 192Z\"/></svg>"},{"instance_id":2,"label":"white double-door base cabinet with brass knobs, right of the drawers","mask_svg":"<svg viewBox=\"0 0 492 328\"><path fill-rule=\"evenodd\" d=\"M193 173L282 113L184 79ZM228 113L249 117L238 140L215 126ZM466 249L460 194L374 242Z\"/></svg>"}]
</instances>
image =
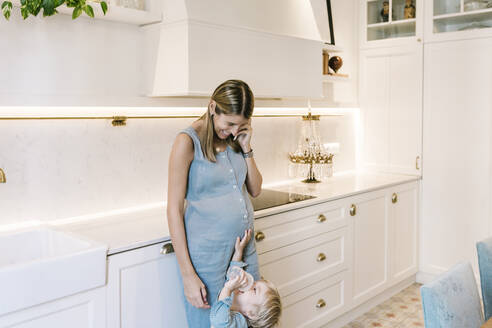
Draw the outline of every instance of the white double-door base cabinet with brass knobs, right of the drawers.
<instances>
[{"instance_id":1,"label":"white double-door base cabinet with brass knobs, right of the drawers","mask_svg":"<svg viewBox=\"0 0 492 328\"><path fill-rule=\"evenodd\" d=\"M354 220L353 301L361 304L417 273L418 183L360 195Z\"/></svg>"}]
</instances>

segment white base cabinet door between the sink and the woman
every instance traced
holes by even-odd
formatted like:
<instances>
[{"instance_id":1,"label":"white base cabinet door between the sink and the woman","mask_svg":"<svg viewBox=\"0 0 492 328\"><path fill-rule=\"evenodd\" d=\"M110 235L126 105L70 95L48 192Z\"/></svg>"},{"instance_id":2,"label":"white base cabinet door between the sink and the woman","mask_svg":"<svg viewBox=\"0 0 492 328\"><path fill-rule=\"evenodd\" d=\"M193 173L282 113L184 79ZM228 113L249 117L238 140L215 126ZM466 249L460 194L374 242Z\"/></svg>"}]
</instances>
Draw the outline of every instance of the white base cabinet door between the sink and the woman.
<instances>
[{"instance_id":1,"label":"white base cabinet door between the sink and the woman","mask_svg":"<svg viewBox=\"0 0 492 328\"><path fill-rule=\"evenodd\" d=\"M159 243L108 257L107 328L187 327L171 246Z\"/></svg>"}]
</instances>

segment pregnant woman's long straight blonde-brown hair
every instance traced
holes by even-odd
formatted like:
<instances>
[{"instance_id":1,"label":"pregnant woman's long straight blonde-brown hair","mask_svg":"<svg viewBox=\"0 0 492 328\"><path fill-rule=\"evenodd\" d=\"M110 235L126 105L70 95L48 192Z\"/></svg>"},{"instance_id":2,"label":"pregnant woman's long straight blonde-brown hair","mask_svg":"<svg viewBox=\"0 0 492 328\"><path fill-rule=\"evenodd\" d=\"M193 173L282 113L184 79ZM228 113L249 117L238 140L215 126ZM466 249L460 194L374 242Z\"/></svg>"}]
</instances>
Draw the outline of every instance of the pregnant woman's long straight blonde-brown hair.
<instances>
[{"instance_id":1,"label":"pregnant woman's long straight blonde-brown hair","mask_svg":"<svg viewBox=\"0 0 492 328\"><path fill-rule=\"evenodd\" d=\"M226 115L242 115L249 119L253 115L254 96L249 86L241 80L227 80L219 85L212 94L211 100L215 101L215 113ZM210 115L210 108L200 117L204 121L203 129L199 134L202 151L205 157L215 162L216 152L214 148L214 121L213 115ZM239 152L241 147L237 141L234 141L232 136L226 139L226 143L231 146L235 152Z\"/></svg>"}]
</instances>

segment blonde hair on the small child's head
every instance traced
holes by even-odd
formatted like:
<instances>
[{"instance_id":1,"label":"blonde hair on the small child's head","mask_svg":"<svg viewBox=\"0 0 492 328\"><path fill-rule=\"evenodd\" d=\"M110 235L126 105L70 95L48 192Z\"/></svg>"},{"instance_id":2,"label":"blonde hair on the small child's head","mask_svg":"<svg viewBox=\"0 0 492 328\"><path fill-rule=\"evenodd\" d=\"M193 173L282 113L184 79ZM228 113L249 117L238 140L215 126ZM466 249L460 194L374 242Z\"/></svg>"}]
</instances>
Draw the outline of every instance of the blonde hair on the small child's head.
<instances>
[{"instance_id":1,"label":"blonde hair on the small child's head","mask_svg":"<svg viewBox=\"0 0 492 328\"><path fill-rule=\"evenodd\" d=\"M254 318L246 318L248 327L251 328L270 328L275 327L282 314L282 303L280 302L280 295L274 284L268 280L258 280L267 286L265 292L265 300L260 304L258 312Z\"/></svg>"}]
</instances>

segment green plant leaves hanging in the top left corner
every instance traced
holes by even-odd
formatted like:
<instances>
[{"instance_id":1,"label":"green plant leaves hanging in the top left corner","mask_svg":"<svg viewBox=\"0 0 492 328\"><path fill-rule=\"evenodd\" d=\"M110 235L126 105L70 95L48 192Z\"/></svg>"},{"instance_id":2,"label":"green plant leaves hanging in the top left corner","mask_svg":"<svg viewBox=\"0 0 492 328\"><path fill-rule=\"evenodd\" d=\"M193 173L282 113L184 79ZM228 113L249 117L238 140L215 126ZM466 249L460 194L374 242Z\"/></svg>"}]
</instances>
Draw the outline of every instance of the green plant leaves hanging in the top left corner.
<instances>
[{"instance_id":1,"label":"green plant leaves hanging in the top left corner","mask_svg":"<svg viewBox=\"0 0 492 328\"><path fill-rule=\"evenodd\" d=\"M106 15L108 4L101 0L20 0L20 11L24 19L29 16L37 16L41 9L43 10L43 17L46 17L57 14L56 8L65 5L68 8L73 8L72 19L76 19L83 12L87 16L94 18L94 9L90 3L99 3L104 15ZM3 1L1 8L3 16L8 20L13 8L12 1Z\"/></svg>"}]
</instances>

